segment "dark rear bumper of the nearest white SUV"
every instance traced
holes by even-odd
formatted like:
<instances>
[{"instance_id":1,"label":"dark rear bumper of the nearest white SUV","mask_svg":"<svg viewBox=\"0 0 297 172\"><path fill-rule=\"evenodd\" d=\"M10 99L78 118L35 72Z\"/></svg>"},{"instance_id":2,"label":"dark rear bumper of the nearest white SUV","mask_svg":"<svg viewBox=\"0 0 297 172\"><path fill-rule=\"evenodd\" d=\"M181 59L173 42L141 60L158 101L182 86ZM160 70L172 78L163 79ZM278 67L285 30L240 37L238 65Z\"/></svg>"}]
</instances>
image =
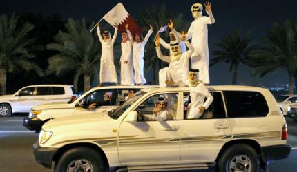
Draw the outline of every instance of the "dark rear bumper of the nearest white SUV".
<instances>
[{"instance_id":1,"label":"dark rear bumper of the nearest white SUV","mask_svg":"<svg viewBox=\"0 0 297 172\"><path fill-rule=\"evenodd\" d=\"M291 144L262 147L262 155L266 162L287 158L291 152Z\"/></svg>"}]
</instances>

